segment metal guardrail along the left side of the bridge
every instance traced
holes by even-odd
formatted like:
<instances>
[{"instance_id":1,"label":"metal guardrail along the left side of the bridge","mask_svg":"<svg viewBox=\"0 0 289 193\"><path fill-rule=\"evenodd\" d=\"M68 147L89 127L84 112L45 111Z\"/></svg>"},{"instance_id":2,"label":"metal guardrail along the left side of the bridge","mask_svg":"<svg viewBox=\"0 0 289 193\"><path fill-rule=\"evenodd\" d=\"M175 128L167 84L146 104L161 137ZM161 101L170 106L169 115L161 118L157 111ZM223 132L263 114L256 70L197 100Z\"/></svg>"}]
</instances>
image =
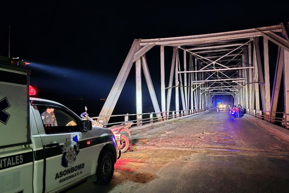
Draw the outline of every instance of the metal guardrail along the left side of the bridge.
<instances>
[{"instance_id":1,"label":"metal guardrail along the left side of the bridge","mask_svg":"<svg viewBox=\"0 0 289 193\"><path fill-rule=\"evenodd\" d=\"M180 110L180 111L162 111L159 113L151 112L151 113L142 113L142 114L107 115L107 116L101 116L101 118L106 119L106 118L111 118L111 117L124 117L123 119L124 121L103 124L103 126L109 126L109 125L121 124L121 123L124 123L125 121L129 121L130 116L144 115L146 117L149 115L148 118L130 120L130 121L133 121L134 125L141 126L142 124L150 124L150 123L157 122L157 121L174 119L174 118L183 117L187 115L193 115L196 113L204 112L211 108L212 107L205 107L201 109ZM99 117L91 117L91 119L97 119L97 118Z\"/></svg>"}]
</instances>

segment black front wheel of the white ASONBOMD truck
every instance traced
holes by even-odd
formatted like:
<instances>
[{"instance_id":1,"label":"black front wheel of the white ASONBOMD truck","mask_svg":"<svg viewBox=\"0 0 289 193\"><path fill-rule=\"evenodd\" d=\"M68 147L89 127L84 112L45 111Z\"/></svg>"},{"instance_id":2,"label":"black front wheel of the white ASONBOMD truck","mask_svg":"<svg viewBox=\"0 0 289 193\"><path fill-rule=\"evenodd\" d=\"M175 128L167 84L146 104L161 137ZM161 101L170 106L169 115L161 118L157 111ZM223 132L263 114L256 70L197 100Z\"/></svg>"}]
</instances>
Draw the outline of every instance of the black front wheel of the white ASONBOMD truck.
<instances>
[{"instance_id":1,"label":"black front wheel of the white ASONBOMD truck","mask_svg":"<svg viewBox=\"0 0 289 193\"><path fill-rule=\"evenodd\" d=\"M113 154L109 149L105 149L101 151L97 161L97 181L94 184L101 186L108 184L113 177L113 172Z\"/></svg>"}]
</instances>

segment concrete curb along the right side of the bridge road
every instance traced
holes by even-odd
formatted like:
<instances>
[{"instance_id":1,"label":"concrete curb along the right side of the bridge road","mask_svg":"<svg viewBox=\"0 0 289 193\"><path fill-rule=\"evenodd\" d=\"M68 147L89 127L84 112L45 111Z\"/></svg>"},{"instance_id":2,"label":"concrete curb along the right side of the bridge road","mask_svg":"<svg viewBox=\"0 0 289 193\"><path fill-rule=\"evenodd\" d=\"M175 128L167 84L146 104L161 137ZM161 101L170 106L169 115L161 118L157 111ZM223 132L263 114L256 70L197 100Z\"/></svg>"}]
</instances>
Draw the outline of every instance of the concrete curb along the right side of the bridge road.
<instances>
[{"instance_id":1,"label":"concrete curb along the right side of the bridge road","mask_svg":"<svg viewBox=\"0 0 289 193\"><path fill-rule=\"evenodd\" d=\"M258 119L248 114L244 114L244 117L246 117L246 119L251 120L256 126L261 127L265 129L266 131L269 131L271 134L275 135L279 139L289 142L289 130L288 129L279 127L278 125L274 125L272 123L269 123L262 119Z\"/></svg>"}]
</instances>

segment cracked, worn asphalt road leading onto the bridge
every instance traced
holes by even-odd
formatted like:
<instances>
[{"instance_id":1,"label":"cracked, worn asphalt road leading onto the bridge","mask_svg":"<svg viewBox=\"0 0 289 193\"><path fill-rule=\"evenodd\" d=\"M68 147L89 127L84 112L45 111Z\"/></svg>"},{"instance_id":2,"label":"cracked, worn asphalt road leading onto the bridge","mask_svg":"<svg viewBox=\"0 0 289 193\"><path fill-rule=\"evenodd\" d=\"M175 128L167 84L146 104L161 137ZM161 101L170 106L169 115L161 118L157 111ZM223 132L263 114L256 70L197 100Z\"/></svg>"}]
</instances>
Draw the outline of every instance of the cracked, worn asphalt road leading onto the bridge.
<instances>
[{"instance_id":1,"label":"cracked, worn asphalt road leading onto the bridge","mask_svg":"<svg viewBox=\"0 0 289 193\"><path fill-rule=\"evenodd\" d=\"M289 192L289 144L228 111L133 135L111 183L74 192Z\"/></svg>"}]
</instances>

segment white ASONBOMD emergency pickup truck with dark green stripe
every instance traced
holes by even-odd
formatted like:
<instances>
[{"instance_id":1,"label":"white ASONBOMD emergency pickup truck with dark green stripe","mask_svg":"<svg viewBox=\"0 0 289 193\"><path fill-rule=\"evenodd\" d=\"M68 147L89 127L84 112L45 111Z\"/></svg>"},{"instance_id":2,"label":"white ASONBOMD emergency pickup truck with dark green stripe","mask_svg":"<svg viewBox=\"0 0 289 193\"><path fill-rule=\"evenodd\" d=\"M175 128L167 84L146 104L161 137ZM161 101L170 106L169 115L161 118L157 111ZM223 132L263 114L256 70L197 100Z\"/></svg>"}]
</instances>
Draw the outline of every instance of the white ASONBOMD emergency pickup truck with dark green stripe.
<instances>
[{"instance_id":1,"label":"white ASONBOMD emergency pickup truck with dark green stripe","mask_svg":"<svg viewBox=\"0 0 289 193\"><path fill-rule=\"evenodd\" d=\"M29 98L22 63L0 57L0 193L58 192L88 177L109 183L116 136L59 103ZM54 126L42 122L51 109Z\"/></svg>"}]
</instances>

